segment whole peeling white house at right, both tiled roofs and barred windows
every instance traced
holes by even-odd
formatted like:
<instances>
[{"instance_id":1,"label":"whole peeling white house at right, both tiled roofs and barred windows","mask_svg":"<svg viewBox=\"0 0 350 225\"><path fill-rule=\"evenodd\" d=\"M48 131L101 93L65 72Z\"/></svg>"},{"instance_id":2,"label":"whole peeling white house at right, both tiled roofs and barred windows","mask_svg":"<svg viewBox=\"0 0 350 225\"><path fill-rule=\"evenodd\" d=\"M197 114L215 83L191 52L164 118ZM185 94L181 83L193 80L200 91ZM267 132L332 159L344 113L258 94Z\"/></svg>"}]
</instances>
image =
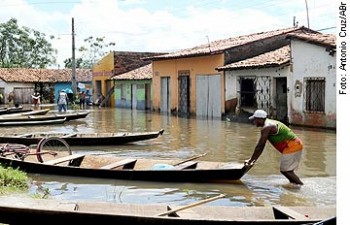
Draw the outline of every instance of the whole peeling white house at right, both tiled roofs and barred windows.
<instances>
[{"instance_id":1,"label":"whole peeling white house at right, both tiled roofs and barred windows","mask_svg":"<svg viewBox=\"0 0 350 225\"><path fill-rule=\"evenodd\" d=\"M223 67L226 99L240 115L264 109L292 125L335 129L335 36L291 33L287 46Z\"/></svg>"}]
</instances>

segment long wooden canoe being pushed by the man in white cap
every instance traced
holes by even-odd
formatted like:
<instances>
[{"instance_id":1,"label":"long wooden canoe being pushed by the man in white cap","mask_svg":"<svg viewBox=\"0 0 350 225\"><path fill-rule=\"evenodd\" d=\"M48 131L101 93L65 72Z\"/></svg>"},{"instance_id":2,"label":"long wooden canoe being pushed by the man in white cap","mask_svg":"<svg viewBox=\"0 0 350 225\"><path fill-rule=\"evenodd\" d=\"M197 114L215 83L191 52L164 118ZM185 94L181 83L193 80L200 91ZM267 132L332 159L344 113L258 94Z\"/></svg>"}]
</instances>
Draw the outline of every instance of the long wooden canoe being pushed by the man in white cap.
<instances>
[{"instance_id":1,"label":"long wooden canoe being pushed by the man in white cap","mask_svg":"<svg viewBox=\"0 0 350 225\"><path fill-rule=\"evenodd\" d=\"M47 156L49 157L49 156ZM59 156L57 156L59 157ZM0 157L0 164L28 173L52 175L143 180L157 182L232 182L241 179L251 166L191 160L117 158L106 155L73 154L43 163ZM57 158L57 159L56 159Z\"/></svg>"}]
</instances>

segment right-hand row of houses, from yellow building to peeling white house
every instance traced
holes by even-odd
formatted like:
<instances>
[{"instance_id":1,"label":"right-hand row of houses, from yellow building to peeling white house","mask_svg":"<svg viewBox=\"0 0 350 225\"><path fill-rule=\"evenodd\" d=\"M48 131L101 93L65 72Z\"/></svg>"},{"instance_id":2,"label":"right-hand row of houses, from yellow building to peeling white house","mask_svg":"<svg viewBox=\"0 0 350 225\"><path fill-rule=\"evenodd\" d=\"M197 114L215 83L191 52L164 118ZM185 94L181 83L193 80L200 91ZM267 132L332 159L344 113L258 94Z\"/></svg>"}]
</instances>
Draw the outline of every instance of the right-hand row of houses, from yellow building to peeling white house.
<instances>
[{"instance_id":1,"label":"right-hand row of houses, from yellow building to peeling white house","mask_svg":"<svg viewBox=\"0 0 350 225\"><path fill-rule=\"evenodd\" d=\"M262 108L293 125L335 129L335 51L335 35L305 27L171 53L114 51L90 71L91 93L110 107L208 119Z\"/></svg>"}]
</instances>

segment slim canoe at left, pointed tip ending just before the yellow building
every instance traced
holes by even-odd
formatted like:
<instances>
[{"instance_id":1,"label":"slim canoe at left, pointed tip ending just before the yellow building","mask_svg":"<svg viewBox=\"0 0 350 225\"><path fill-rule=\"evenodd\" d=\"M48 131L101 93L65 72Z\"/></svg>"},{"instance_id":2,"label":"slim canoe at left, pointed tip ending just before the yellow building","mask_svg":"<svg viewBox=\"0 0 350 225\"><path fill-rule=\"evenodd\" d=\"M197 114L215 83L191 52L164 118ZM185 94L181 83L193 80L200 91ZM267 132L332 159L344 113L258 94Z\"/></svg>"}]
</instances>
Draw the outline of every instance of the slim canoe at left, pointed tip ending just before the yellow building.
<instances>
[{"instance_id":1,"label":"slim canoe at left, pointed tip ending just before the yellow building","mask_svg":"<svg viewBox=\"0 0 350 225\"><path fill-rule=\"evenodd\" d=\"M20 121L44 121L65 118L66 121L85 118L89 111L78 111L69 113L48 113L45 115L24 115L24 116L0 116L0 122L20 122Z\"/></svg>"}]
</instances>

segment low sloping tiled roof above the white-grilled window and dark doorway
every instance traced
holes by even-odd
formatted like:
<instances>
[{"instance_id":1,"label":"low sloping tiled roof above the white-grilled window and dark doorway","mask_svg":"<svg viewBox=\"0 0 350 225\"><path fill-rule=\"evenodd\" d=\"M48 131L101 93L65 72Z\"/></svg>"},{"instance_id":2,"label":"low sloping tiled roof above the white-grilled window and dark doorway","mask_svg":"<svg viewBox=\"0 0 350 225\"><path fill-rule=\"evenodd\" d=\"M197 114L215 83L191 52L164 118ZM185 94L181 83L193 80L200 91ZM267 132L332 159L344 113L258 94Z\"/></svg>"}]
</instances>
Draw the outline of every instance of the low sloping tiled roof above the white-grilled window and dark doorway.
<instances>
[{"instance_id":1,"label":"low sloping tiled roof above the white-grilled window and dark doorway","mask_svg":"<svg viewBox=\"0 0 350 225\"><path fill-rule=\"evenodd\" d=\"M240 69L256 69L278 67L290 62L290 46L284 46L271 52L267 52L249 59L241 60L217 68L222 70L240 70Z\"/></svg>"}]
</instances>

